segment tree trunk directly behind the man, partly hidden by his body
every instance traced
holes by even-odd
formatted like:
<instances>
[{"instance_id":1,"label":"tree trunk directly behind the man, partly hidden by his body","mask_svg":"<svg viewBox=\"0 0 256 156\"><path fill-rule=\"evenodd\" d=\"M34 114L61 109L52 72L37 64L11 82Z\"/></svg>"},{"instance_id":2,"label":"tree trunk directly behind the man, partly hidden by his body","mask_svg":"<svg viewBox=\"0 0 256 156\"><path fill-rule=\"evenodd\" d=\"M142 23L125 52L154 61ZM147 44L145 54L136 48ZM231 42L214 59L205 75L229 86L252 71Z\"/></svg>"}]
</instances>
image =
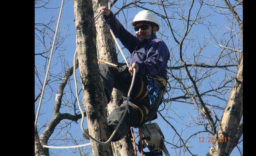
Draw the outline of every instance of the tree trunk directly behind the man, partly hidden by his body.
<instances>
[{"instance_id":1,"label":"tree trunk directly behind the man, partly hidden by his body","mask_svg":"<svg viewBox=\"0 0 256 156\"><path fill-rule=\"evenodd\" d=\"M93 0L94 16L97 15L100 6L108 6L107 0ZM97 45L99 52L99 59L106 62L118 64L117 53L115 50L115 41L111 36L108 26L104 22L103 15L97 22L95 22L97 31ZM111 101L108 104L108 113L111 113L115 107L118 106L118 101L122 98L122 94L113 89ZM131 139L125 136L123 139L117 142L112 142L112 149L114 156L134 156L133 146Z\"/></svg>"}]
</instances>

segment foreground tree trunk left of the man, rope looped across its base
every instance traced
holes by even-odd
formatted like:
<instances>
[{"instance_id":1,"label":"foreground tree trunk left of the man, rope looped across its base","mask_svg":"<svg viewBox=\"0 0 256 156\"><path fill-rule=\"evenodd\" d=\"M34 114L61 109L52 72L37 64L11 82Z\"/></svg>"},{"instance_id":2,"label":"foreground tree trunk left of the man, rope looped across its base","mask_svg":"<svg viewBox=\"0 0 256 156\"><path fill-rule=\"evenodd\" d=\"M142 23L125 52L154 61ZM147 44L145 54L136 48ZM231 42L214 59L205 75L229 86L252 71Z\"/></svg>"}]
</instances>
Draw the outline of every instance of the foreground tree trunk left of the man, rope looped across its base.
<instances>
[{"instance_id":1,"label":"foreground tree trunk left of the man, rope looped across its base","mask_svg":"<svg viewBox=\"0 0 256 156\"><path fill-rule=\"evenodd\" d=\"M74 0L76 46L89 134L97 140L109 138L103 87L96 53L96 30L91 0ZM93 156L112 156L111 144L91 140Z\"/></svg>"}]
</instances>

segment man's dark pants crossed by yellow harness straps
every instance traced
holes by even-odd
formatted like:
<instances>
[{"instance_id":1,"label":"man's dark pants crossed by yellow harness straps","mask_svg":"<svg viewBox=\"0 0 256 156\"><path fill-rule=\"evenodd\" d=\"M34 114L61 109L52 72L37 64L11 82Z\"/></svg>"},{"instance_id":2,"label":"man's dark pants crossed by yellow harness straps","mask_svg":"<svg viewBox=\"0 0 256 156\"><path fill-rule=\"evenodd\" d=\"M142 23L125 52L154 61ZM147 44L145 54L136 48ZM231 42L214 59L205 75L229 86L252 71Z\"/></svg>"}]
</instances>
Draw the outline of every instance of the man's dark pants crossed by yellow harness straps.
<instances>
[{"instance_id":1,"label":"man's dark pants crossed by yellow harness straps","mask_svg":"<svg viewBox=\"0 0 256 156\"><path fill-rule=\"evenodd\" d=\"M105 64L100 64L100 74L108 102L110 101L113 88L118 89L124 94L122 104L115 108L109 115L108 126L110 133L115 130L121 116L124 114L126 106L126 98L132 82L132 75L128 71L128 67L113 67ZM117 133L112 141L119 141L130 130L130 127L139 127L140 125L151 121L156 117L159 104L161 102L161 89L158 91L158 97L154 102L154 106L150 108L150 98L147 96L148 79L146 76L136 75L135 83L132 87L128 111L121 122ZM107 102L107 103L108 103Z\"/></svg>"}]
</instances>

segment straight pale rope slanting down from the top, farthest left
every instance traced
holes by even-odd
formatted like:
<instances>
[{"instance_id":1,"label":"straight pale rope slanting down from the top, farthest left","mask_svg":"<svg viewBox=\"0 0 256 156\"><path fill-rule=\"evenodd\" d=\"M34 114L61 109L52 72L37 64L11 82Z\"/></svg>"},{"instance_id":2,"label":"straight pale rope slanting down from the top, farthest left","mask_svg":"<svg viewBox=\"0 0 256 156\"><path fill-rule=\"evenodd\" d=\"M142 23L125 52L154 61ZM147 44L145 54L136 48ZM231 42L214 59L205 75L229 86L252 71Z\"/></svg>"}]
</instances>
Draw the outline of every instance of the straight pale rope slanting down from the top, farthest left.
<instances>
[{"instance_id":1,"label":"straight pale rope slanting down from the top, farthest left","mask_svg":"<svg viewBox=\"0 0 256 156\"><path fill-rule=\"evenodd\" d=\"M40 108L41 108L41 104L42 104L42 100L43 100L43 94L44 94L44 90L45 90L45 87L46 87L46 82L47 82L48 73L49 73L49 70L50 70L50 65L51 65L51 62L52 62L52 54L53 54L53 50L54 50L54 45L55 45L55 41L56 41L57 32L58 32L58 29L59 29L59 22L61 20L61 13L62 13L63 4L64 4L64 0L62 0L62 2L61 2L61 10L60 10L60 13L59 13L59 19L58 19L58 23L57 23L57 26L56 26L56 31L55 31L55 35L54 35L54 39L53 39L53 43L52 43L52 51L51 51L51 54L50 54L50 59L49 59L49 63L48 63L47 71L46 71L46 77L44 78L44 82L43 82L42 94L41 94L41 98L40 98L38 109L37 109L37 115L36 115L36 118L35 118L35 130L36 130L36 127L37 127L37 119L39 117L39 112L40 112Z\"/></svg>"}]
</instances>

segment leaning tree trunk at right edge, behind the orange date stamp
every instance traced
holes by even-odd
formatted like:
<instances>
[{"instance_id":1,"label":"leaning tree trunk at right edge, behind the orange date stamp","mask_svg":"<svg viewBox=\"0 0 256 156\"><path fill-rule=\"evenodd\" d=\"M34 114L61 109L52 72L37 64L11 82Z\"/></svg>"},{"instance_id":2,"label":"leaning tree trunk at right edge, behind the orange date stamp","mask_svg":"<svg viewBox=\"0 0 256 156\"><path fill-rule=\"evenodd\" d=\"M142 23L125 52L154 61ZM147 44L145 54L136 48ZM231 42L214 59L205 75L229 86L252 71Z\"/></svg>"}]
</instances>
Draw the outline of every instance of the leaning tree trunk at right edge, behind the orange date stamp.
<instances>
[{"instance_id":1,"label":"leaning tree trunk at right edge, behind the orange date stamp","mask_svg":"<svg viewBox=\"0 0 256 156\"><path fill-rule=\"evenodd\" d=\"M221 125L215 135L207 156L229 156L243 133L241 118L243 116L243 53L236 74L236 80L230 91L226 108L224 109ZM223 138L222 138L223 137ZM229 139L228 139L229 137Z\"/></svg>"}]
</instances>

